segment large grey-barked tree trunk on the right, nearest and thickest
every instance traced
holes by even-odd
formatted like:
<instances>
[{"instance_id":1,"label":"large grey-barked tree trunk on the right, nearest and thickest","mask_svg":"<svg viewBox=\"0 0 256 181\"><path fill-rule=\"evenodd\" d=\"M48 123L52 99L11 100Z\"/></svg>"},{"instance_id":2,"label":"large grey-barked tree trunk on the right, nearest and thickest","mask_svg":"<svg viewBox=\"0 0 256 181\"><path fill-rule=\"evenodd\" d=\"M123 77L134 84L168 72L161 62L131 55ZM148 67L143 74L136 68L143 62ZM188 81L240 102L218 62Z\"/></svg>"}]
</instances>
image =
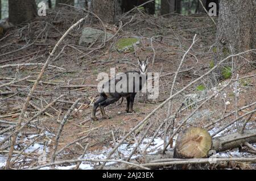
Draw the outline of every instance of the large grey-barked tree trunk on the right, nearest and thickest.
<instances>
[{"instance_id":1,"label":"large grey-barked tree trunk on the right, nearest and thickest","mask_svg":"<svg viewBox=\"0 0 256 181\"><path fill-rule=\"evenodd\" d=\"M221 0L220 14L218 16L217 25L217 47L214 51L215 64L233 54L243 52L245 50L255 48L255 0L248 0L246 3L242 0ZM232 47L232 49L230 49ZM246 53L242 55L249 61L253 59L253 53ZM241 67L240 72L246 73L251 70L252 65L241 57L234 57L234 68ZM232 59L228 60L225 65L232 67ZM224 78L224 69L216 70L217 78Z\"/></svg>"}]
</instances>

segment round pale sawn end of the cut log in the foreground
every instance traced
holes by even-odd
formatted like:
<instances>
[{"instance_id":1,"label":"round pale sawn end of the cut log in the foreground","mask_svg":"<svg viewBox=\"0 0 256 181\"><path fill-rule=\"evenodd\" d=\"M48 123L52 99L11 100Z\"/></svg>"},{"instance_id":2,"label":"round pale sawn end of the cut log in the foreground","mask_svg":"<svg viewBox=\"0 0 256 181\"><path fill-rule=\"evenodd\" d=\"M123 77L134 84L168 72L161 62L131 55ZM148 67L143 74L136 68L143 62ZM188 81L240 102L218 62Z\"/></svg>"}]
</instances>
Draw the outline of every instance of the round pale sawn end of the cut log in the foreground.
<instances>
[{"instance_id":1,"label":"round pale sawn end of the cut log in the foreground","mask_svg":"<svg viewBox=\"0 0 256 181\"><path fill-rule=\"evenodd\" d=\"M174 158L206 158L212 137L204 128L190 127L179 133Z\"/></svg>"}]
</instances>

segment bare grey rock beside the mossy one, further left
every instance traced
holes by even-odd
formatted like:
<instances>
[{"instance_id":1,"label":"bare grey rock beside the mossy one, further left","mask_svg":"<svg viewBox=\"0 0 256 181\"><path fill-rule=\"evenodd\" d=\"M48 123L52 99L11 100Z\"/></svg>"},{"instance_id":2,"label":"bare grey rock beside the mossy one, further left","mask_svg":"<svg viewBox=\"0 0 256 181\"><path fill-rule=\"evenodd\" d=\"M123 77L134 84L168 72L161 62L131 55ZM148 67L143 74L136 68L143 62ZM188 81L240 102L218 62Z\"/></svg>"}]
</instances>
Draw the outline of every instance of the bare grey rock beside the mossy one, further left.
<instances>
[{"instance_id":1,"label":"bare grey rock beside the mossy one, further left","mask_svg":"<svg viewBox=\"0 0 256 181\"><path fill-rule=\"evenodd\" d=\"M110 39L113 35L111 33L106 33L106 40ZM82 47L87 47L88 45L94 43L95 41L103 42L105 37L105 32L102 30L97 30L90 27L85 27L82 30L82 35L79 39L79 45Z\"/></svg>"}]
</instances>

